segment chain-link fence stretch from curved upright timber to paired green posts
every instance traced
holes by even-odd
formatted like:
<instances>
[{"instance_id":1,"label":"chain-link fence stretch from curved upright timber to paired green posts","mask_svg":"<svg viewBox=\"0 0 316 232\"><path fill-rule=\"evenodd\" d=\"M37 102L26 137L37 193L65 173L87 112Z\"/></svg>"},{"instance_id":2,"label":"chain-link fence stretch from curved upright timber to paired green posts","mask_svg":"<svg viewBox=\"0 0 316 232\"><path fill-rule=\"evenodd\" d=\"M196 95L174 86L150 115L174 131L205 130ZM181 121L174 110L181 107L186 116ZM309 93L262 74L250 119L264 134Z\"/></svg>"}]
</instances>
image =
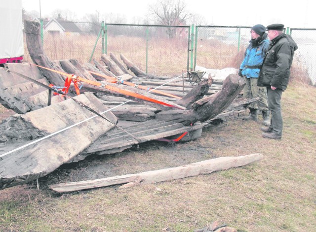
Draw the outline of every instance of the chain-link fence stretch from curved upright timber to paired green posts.
<instances>
[{"instance_id":1,"label":"chain-link fence stretch from curved upright timber to paired green posts","mask_svg":"<svg viewBox=\"0 0 316 232\"><path fill-rule=\"evenodd\" d=\"M42 32L43 49L50 60L93 63L111 52L118 60L122 54L141 70L156 75L175 75L189 69L190 26L55 20L46 23ZM31 61L26 46L24 61Z\"/></svg>"}]
</instances>

